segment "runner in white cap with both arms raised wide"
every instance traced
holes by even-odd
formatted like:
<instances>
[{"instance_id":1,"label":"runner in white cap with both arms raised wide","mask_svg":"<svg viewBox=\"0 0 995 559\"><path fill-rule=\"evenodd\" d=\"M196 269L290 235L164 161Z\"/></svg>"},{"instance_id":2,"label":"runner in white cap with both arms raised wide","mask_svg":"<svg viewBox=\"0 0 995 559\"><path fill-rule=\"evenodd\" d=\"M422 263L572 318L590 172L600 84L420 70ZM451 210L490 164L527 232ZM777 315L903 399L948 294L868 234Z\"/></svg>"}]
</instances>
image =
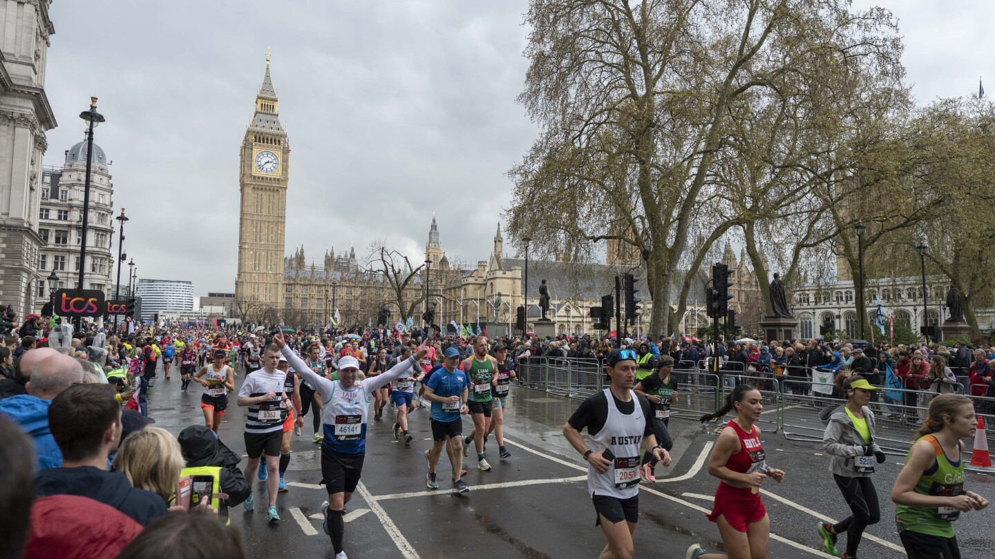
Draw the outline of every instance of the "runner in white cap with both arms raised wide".
<instances>
[{"instance_id":1,"label":"runner in white cap with both arms raised wide","mask_svg":"<svg viewBox=\"0 0 995 559\"><path fill-rule=\"evenodd\" d=\"M351 355L340 357L336 382L311 371L287 347L282 334L276 334L273 343L281 348L281 353L291 362L291 366L300 371L300 376L317 389L325 402L321 476L328 490L328 500L321 504L324 512L323 527L331 537L335 559L346 559L342 544L345 532L342 512L345 503L352 498L352 492L359 484L362 473L363 459L366 456L366 418L370 393L408 374L413 367L418 366L417 359L425 354L425 349L419 349L413 359L401 361L382 374L358 382L356 373L359 362ZM269 356L269 348L267 351Z\"/></svg>"}]
</instances>

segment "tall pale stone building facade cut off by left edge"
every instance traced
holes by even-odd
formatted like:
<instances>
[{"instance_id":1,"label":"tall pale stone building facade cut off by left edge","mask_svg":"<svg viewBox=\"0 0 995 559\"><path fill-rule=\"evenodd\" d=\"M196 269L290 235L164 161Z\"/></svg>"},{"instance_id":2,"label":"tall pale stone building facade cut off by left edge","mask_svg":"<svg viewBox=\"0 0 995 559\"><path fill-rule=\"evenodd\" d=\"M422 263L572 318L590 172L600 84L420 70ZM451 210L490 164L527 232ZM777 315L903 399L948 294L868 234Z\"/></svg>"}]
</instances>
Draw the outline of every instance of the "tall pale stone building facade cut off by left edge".
<instances>
[{"instance_id":1,"label":"tall pale stone building facade cut off by left edge","mask_svg":"<svg viewBox=\"0 0 995 559\"><path fill-rule=\"evenodd\" d=\"M37 301L42 156L56 127L45 94L50 5L0 0L0 305L22 316Z\"/></svg>"}]
</instances>

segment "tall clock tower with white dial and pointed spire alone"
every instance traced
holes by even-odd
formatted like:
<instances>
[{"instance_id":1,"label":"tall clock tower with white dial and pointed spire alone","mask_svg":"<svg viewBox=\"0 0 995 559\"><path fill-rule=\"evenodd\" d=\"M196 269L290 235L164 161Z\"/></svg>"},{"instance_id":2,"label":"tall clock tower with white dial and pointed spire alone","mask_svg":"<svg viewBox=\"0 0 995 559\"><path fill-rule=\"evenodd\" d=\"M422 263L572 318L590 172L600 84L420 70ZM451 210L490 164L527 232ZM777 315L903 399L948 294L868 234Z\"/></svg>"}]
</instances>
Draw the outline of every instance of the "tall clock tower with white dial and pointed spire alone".
<instances>
[{"instance_id":1,"label":"tall clock tower with white dial and pointed spire alone","mask_svg":"<svg viewBox=\"0 0 995 559\"><path fill-rule=\"evenodd\" d=\"M256 112L242 140L239 164L239 272L237 299L282 306L284 229L291 146L280 123L279 99L266 76L256 93Z\"/></svg>"}]
</instances>

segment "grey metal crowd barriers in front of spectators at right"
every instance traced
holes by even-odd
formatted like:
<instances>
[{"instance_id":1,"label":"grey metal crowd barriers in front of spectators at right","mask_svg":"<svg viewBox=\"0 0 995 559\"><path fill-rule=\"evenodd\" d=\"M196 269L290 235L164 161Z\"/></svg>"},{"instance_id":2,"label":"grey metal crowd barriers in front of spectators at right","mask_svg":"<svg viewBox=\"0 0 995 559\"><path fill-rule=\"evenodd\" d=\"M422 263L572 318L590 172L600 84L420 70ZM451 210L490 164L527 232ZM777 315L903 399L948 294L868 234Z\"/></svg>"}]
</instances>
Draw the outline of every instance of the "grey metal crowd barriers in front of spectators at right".
<instances>
[{"instance_id":1,"label":"grey metal crowd barriers in front of spectators at right","mask_svg":"<svg viewBox=\"0 0 995 559\"><path fill-rule=\"evenodd\" d=\"M718 374L707 367L708 360L682 361L672 372L678 381L678 402L672 418L695 422L718 410L736 386L748 384L760 391L764 411L757 427L765 433L781 433L786 439L821 443L825 425L819 414L828 406L844 403L832 384L819 382L819 375L805 367L785 367L783 374L737 372L741 363L726 362ZM729 367L731 365L731 367ZM519 386L569 398L586 398L608 386L604 370L595 359L530 357L518 363ZM884 378L884 375L882 375ZM816 379L816 380L813 380ZM956 384L955 393L967 396L975 412L984 419L989 448L995 448L995 397L971 396L970 386ZM887 389L872 393L870 408L875 414L877 441L887 453L903 456L922 426L935 392ZM728 417L728 416L727 416ZM974 442L965 440L970 460Z\"/></svg>"}]
</instances>

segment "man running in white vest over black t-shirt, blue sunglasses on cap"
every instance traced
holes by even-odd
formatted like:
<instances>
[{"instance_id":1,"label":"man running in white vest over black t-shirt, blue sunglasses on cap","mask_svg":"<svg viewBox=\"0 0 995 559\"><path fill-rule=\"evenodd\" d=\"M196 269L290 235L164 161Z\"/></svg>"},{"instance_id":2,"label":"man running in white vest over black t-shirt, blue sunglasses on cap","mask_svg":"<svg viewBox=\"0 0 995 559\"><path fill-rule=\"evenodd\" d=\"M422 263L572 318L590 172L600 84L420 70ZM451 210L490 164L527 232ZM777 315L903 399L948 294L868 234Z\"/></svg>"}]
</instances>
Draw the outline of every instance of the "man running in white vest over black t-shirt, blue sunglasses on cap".
<instances>
[{"instance_id":1,"label":"man running in white vest over black t-shirt, blue sunglasses on cap","mask_svg":"<svg viewBox=\"0 0 995 559\"><path fill-rule=\"evenodd\" d=\"M657 446L650 403L632 390L636 352L617 349L605 359L611 386L581 402L563 426L563 436L587 461L587 490L608 545L601 557L632 557L632 532L639 520L639 450L664 466L671 456ZM587 429L587 436L580 432ZM623 522L625 520L625 522Z\"/></svg>"}]
</instances>

